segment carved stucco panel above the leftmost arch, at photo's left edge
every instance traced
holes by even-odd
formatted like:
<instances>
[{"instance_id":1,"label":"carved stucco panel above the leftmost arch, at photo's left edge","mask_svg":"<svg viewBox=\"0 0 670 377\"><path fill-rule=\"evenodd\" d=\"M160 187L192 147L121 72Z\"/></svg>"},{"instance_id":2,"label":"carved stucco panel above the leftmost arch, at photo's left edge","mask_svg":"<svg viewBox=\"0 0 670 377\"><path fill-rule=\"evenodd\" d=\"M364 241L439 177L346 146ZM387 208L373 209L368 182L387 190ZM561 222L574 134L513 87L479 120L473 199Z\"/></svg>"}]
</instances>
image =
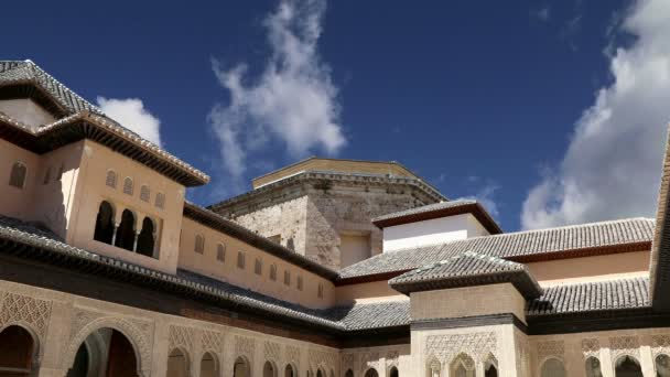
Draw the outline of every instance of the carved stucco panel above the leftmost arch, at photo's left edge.
<instances>
[{"instance_id":1,"label":"carved stucco panel above the leftmost arch, at photo's left edge","mask_svg":"<svg viewBox=\"0 0 670 377\"><path fill-rule=\"evenodd\" d=\"M0 300L0 328L22 325L33 332L39 344L43 345L51 320L51 301L10 292L2 292Z\"/></svg>"}]
</instances>

